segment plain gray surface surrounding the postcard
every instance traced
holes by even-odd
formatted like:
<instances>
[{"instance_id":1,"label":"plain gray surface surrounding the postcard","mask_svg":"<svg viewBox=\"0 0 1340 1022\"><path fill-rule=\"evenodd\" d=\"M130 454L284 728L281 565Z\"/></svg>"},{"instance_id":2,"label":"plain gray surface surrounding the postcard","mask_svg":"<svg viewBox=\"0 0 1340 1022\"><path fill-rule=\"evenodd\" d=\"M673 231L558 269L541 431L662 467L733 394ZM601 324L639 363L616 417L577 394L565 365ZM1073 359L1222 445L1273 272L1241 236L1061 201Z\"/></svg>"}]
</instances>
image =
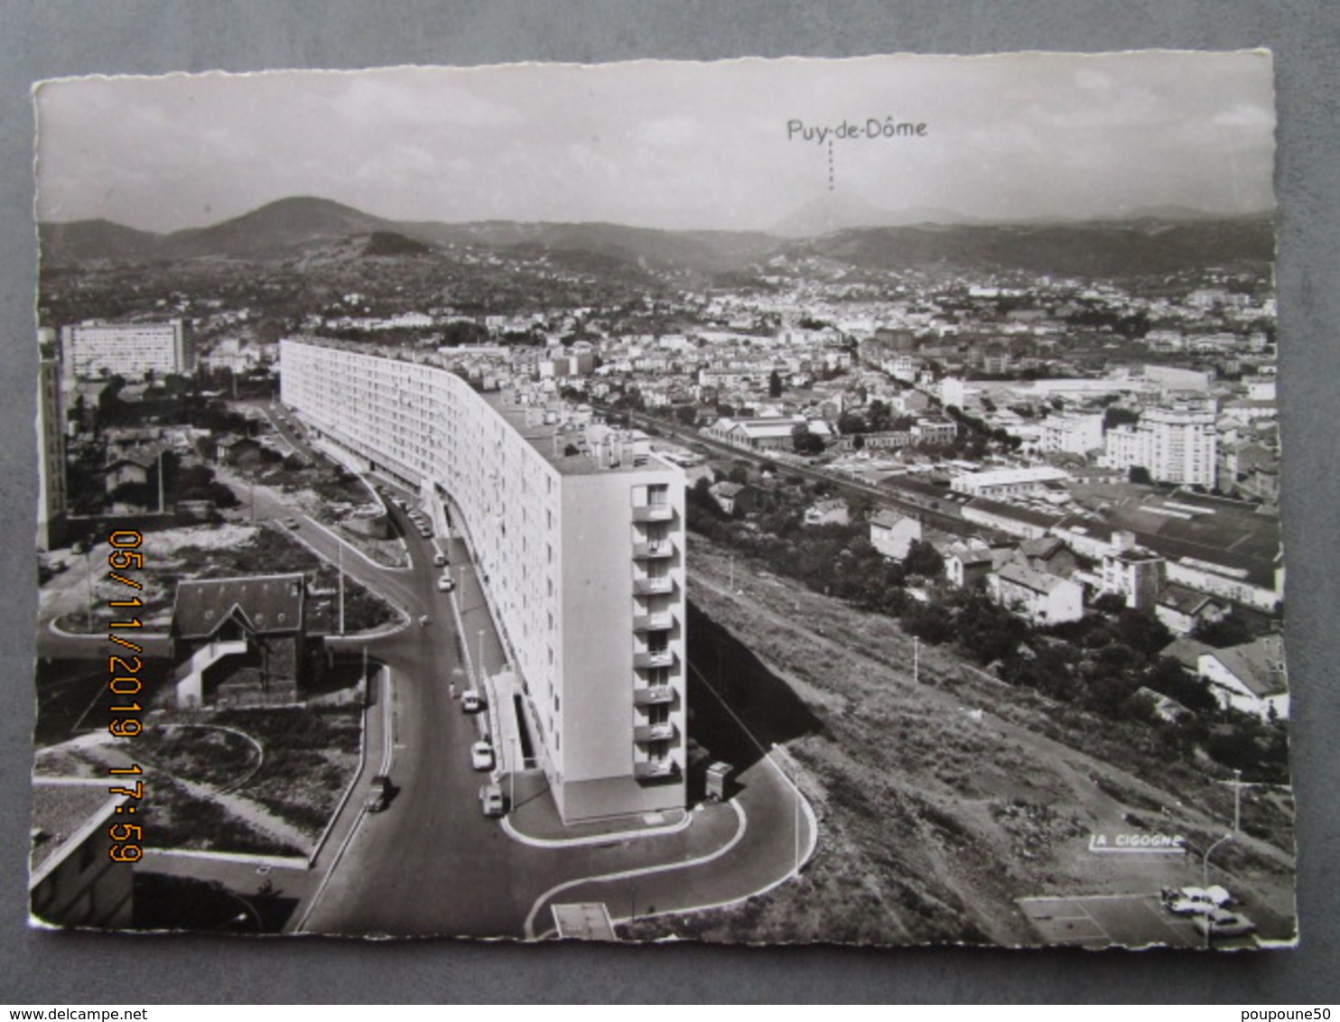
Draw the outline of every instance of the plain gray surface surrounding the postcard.
<instances>
[{"instance_id":1,"label":"plain gray surface surrounding the postcard","mask_svg":"<svg viewBox=\"0 0 1340 1022\"><path fill-rule=\"evenodd\" d=\"M519 947L32 932L25 918L35 245L28 87L91 72L1242 48L1276 55L1288 652L1301 809L1293 952ZM0 0L0 1002L1336 1001L1340 7L1325 3L252 3Z\"/></svg>"}]
</instances>

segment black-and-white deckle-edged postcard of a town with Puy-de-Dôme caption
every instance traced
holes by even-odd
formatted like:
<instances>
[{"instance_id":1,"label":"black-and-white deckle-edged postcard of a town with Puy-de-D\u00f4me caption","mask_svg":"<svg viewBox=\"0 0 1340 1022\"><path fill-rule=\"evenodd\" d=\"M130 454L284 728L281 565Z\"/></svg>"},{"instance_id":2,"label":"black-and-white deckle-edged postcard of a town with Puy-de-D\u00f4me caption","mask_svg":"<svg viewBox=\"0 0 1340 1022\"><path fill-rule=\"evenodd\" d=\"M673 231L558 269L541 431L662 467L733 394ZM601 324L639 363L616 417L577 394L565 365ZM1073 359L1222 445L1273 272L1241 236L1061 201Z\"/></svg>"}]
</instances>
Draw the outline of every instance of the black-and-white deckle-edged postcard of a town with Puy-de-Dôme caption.
<instances>
[{"instance_id":1,"label":"black-and-white deckle-edged postcard of a town with Puy-de-D\u00f4me caption","mask_svg":"<svg viewBox=\"0 0 1340 1022\"><path fill-rule=\"evenodd\" d=\"M35 926L1294 922L1268 52L35 90Z\"/></svg>"}]
</instances>

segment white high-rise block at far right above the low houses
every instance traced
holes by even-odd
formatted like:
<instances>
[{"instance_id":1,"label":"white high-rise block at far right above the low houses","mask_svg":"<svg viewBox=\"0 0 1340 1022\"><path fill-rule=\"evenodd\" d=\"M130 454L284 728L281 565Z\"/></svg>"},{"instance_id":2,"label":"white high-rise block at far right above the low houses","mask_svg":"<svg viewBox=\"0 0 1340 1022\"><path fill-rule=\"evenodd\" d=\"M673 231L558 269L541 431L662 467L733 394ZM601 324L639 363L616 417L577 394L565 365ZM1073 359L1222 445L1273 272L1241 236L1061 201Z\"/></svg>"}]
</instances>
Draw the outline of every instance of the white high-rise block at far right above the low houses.
<instances>
[{"instance_id":1,"label":"white high-rise block at far right above the low houses","mask_svg":"<svg viewBox=\"0 0 1340 1022\"><path fill-rule=\"evenodd\" d=\"M1213 402L1183 402L1147 409L1135 426L1107 431L1104 463L1142 466L1158 482L1214 486L1218 435Z\"/></svg>"}]
</instances>

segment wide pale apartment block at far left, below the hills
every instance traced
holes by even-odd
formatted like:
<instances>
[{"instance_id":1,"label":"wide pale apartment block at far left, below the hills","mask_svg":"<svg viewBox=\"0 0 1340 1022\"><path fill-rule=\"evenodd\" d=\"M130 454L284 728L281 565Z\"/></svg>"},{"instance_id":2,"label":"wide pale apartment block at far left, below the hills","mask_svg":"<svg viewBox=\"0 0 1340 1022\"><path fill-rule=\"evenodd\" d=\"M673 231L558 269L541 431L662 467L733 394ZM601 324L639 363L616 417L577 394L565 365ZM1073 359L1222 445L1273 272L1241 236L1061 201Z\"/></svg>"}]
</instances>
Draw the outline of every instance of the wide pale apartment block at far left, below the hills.
<instances>
[{"instance_id":1,"label":"wide pale apartment block at far left, below the hills","mask_svg":"<svg viewBox=\"0 0 1340 1022\"><path fill-rule=\"evenodd\" d=\"M168 323L86 323L60 328L60 360L74 379L113 376L143 379L150 372L196 368L190 331L180 319Z\"/></svg>"}]
</instances>

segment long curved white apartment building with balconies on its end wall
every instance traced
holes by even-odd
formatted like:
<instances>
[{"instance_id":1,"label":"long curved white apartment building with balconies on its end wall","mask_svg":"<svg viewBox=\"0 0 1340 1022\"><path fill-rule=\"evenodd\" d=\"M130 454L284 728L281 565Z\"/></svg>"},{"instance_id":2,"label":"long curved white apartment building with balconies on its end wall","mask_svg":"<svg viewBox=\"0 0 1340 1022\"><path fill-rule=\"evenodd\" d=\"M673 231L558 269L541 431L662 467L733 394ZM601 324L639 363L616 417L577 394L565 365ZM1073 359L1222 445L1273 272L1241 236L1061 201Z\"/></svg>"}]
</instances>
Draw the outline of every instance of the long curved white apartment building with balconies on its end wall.
<instances>
[{"instance_id":1,"label":"long curved white apartment building with balconies on its end wall","mask_svg":"<svg viewBox=\"0 0 1340 1022\"><path fill-rule=\"evenodd\" d=\"M449 501L565 821L685 805L683 473L642 434L324 342L280 396L368 469Z\"/></svg>"}]
</instances>

